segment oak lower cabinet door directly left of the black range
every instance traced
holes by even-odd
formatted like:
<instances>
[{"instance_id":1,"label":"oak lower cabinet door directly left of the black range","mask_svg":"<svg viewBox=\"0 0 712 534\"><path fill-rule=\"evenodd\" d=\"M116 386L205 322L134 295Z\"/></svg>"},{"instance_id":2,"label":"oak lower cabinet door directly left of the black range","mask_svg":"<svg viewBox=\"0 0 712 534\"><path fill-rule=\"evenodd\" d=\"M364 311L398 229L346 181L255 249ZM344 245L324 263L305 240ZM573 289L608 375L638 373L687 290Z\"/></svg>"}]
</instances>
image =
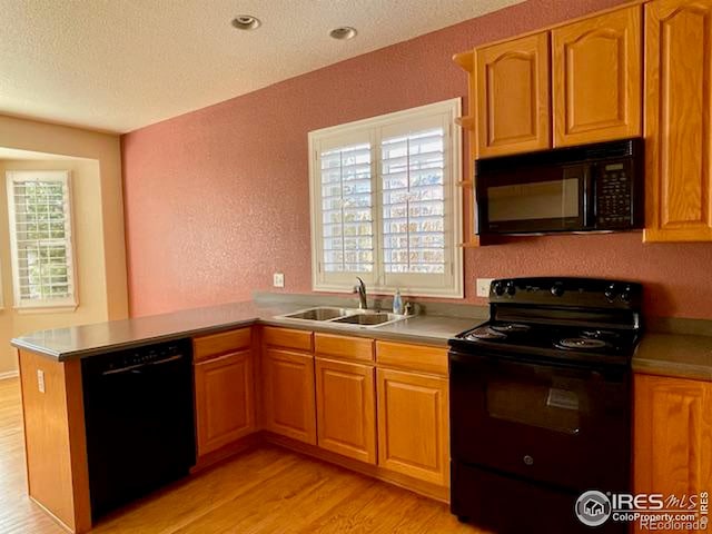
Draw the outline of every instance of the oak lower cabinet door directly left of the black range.
<instances>
[{"instance_id":1,"label":"oak lower cabinet door directly left of the black range","mask_svg":"<svg viewBox=\"0 0 712 534\"><path fill-rule=\"evenodd\" d=\"M378 465L449 483L447 379L377 369Z\"/></svg>"}]
</instances>

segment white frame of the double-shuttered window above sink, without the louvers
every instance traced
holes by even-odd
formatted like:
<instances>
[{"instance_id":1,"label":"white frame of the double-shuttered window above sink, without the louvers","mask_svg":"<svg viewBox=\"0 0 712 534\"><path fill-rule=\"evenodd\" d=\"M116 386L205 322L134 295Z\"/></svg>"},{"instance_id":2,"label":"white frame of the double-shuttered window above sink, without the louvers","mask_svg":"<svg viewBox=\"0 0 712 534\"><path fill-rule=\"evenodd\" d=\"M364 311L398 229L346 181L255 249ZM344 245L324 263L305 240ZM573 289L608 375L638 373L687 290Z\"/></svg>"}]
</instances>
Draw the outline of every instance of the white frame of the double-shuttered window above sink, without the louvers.
<instances>
[{"instance_id":1,"label":"white frame of the double-shuttered window above sink, without the louvers","mask_svg":"<svg viewBox=\"0 0 712 534\"><path fill-rule=\"evenodd\" d=\"M399 289L403 295L428 296L442 298L464 297L463 266L463 196L462 187L462 135L455 125L459 117L462 103L459 98L444 100L417 108L396 111L369 119L310 131L309 144L309 206L312 230L312 288L316 291L352 293L356 276L364 279L369 291L390 294ZM383 249L383 184L380 141L384 129L393 131L399 125L417 123L439 117L445 131L445 236L446 270L443 275L446 284L427 285L424 276L385 273L382 259ZM374 209L374 271L373 273L325 273L322 268L324 258L322 231L322 174L320 154L329 148L369 141L372 147L370 174L372 198Z\"/></svg>"}]
</instances>

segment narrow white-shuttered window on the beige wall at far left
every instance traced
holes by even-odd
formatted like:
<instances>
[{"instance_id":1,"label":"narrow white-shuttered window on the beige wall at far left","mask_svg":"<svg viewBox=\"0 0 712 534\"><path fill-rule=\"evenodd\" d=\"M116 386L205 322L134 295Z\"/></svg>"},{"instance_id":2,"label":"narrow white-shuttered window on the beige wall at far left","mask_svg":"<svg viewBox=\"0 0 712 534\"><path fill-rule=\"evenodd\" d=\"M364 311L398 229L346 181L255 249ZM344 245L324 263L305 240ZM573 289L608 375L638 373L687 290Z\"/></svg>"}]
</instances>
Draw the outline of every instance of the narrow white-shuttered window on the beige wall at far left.
<instances>
[{"instance_id":1,"label":"narrow white-shuttered window on the beige wall at far left","mask_svg":"<svg viewBox=\"0 0 712 534\"><path fill-rule=\"evenodd\" d=\"M77 306L69 172L9 171L14 306Z\"/></svg>"}]
</instances>

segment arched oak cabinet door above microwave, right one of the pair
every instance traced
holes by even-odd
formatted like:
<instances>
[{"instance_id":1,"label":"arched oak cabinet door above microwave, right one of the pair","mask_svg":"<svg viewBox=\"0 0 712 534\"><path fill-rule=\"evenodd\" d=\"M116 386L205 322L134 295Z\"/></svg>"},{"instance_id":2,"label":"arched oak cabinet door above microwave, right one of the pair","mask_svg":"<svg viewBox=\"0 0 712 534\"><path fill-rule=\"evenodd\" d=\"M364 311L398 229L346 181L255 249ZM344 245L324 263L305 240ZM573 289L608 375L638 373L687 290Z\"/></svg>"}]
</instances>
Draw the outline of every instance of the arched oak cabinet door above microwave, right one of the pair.
<instances>
[{"instance_id":1,"label":"arched oak cabinet door above microwave, right one of the pair","mask_svg":"<svg viewBox=\"0 0 712 534\"><path fill-rule=\"evenodd\" d=\"M642 132L641 7L552 31L554 146Z\"/></svg>"}]
</instances>

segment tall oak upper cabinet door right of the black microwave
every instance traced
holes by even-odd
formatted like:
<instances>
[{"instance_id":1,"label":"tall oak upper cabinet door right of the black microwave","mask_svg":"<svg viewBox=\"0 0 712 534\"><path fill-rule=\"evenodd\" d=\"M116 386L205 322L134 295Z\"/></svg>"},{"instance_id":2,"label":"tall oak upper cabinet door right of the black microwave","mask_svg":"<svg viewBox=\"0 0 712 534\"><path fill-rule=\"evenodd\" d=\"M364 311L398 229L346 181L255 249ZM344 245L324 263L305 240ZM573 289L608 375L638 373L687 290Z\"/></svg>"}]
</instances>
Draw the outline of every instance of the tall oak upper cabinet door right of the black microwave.
<instances>
[{"instance_id":1,"label":"tall oak upper cabinet door right of the black microwave","mask_svg":"<svg viewBox=\"0 0 712 534\"><path fill-rule=\"evenodd\" d=\"M712 2L645 6L646 241L712 240Z\"/></svg>"}]
</instances>

